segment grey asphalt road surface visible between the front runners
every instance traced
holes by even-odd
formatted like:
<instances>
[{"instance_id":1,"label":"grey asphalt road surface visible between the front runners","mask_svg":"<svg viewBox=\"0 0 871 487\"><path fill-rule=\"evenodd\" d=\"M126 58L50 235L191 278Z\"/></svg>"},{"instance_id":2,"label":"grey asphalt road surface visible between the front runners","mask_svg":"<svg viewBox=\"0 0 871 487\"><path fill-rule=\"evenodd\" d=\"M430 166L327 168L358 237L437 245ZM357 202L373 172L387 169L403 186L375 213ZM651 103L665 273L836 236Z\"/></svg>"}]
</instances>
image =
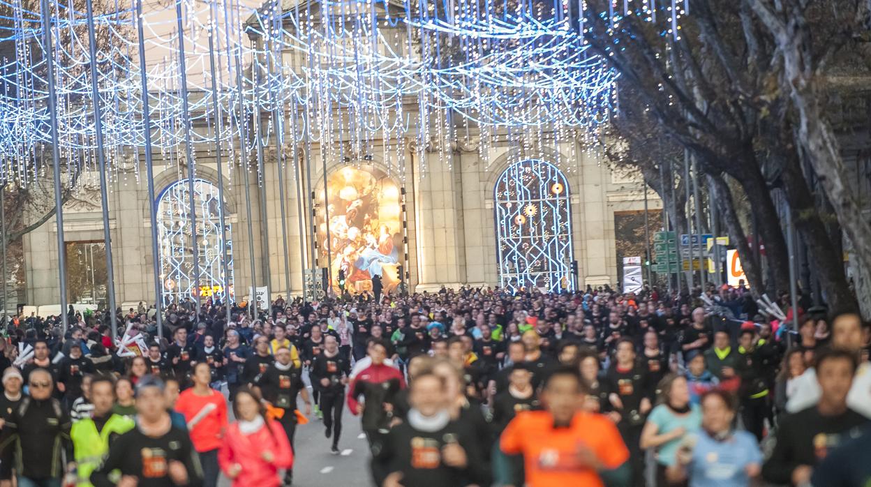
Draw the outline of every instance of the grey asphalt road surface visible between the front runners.
<instances>
[{"instance_id":1,"label":"grey asphalt road surface visible between the front runners","mask_svg":"<svg viewBox=\"0 0 871 487\"><path fill-rule=\"evenodd\" d=\"M307 375L304 375L306 383L307 379ZM300 411L303 410L302 406L300 401ZM345 406L339 441L340 455L330 453L333 440L324 436L323 423L314 413L309 417L308 424L297 426L294 439L294 487L368 487L373 484L369 475L368 443L360 427L360 418L348 412L347 403ZM222 475L219 486L229 487L229 479Z\"/></svg>"}]
</instances>

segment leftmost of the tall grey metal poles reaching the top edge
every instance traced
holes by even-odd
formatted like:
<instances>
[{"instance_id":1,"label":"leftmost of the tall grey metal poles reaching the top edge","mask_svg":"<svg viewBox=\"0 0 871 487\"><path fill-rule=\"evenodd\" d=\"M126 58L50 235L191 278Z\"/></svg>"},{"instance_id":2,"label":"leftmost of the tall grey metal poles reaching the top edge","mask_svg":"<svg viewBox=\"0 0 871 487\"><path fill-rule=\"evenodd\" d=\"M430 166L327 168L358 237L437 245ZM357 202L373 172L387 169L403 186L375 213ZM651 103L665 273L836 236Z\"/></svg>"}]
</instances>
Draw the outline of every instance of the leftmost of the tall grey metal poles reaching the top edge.
<instances>
[{"instance_id":1,"label":"leftmost of the tall grey metal poles reaching the top edge","mask_svg":"<svg viewBox=\"0 0 871 487\"><path fill-rule=\"evenodd\" d=\"M49 0L41 0L42 21L43 21L43 51L45 53L45 66L47 72L45 82L48 85L48 105L49 105L49 128L51 129L51 162L54 169L54 190L55 190L55 220L57 220L57 267L60 287L60 317L62 323L62 331L66 335L66 329L70 326L69 319L66 315L67 295L66 295L66 247L64 240L64 197L61 193L60 180L60 139L57 135L57 93L55 92L55 72L54 72L54 47L51 45L51 11L49 10ZM5 255L5 254L4 254ZM115 310L111 310L115 313Z\"/></svg>"}]
</instances>

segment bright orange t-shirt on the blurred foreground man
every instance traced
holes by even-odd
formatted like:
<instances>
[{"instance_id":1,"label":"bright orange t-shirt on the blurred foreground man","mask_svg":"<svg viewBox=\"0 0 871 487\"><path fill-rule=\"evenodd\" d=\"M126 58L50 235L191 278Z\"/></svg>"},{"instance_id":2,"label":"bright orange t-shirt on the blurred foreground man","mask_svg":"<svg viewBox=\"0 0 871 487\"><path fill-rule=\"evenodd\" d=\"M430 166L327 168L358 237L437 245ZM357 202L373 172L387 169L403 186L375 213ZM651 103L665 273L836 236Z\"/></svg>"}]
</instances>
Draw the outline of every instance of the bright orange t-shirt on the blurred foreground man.
<instances>
[{"instance_id":1,"label":"bright orange t-shirt on the blurred foreground man","mask_svg":"<svg viewBox=\"0 0 871 487\"><path fill-rule=\"evenodd\" d=\"M629 459L629 450L607 417L578 412L568 428L554 428L547 411L524 411L503 431L500 447L507 455L523 455L526 484L604 486L595 470L577 464L577 447L585 445L608 469Z\"/></svg>"}]
</instances>

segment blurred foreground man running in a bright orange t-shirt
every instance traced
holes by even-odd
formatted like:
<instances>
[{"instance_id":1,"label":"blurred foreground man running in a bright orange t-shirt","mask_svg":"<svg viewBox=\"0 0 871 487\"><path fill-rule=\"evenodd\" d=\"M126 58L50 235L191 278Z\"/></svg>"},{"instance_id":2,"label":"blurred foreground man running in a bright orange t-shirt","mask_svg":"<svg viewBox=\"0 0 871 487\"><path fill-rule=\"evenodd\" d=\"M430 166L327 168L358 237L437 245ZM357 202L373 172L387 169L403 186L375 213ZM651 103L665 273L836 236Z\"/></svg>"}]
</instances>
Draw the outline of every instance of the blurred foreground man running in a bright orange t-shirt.
<instances>
[{"instance_id":1,"label":"blurred foreground man running in a bright orange t-shirt","mask_svg":"<svg viewBox=\"0 0 871 487\"><path fill-rule=\"evenodd\" d=\"M500 447L523 457L530 487L630 484L629 450L607 417L584 412L585 389L576 370L557 369L544 384L545 410L521 412L503 431Z\"/></svg>"}]
</instances>

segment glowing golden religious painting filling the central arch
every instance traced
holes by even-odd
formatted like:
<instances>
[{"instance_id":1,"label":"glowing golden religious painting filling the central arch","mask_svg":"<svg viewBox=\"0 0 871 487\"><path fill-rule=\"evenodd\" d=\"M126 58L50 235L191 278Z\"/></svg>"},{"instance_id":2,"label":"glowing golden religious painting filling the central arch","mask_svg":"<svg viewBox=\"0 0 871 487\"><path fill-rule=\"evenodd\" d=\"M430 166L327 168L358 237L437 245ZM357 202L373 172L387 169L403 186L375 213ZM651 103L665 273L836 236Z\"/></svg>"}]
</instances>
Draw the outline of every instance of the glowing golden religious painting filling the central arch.
<instances>
[{"instance_id":1,"label":"glowing golden religious painting filling the central arch","mask_svg":"<svg viewBox=\"0 0 871 487\"><path fill-rule=\"evenodd\" d=\"M318 256L321 267L332 264L335 292L341 292L340 270L351 294L370 291L376 274L385 293L395 289L403 259L399 186L380 171L344 167L327 178L327 201L330 240L319 212Z\"/></svg>"}]
</instances>

